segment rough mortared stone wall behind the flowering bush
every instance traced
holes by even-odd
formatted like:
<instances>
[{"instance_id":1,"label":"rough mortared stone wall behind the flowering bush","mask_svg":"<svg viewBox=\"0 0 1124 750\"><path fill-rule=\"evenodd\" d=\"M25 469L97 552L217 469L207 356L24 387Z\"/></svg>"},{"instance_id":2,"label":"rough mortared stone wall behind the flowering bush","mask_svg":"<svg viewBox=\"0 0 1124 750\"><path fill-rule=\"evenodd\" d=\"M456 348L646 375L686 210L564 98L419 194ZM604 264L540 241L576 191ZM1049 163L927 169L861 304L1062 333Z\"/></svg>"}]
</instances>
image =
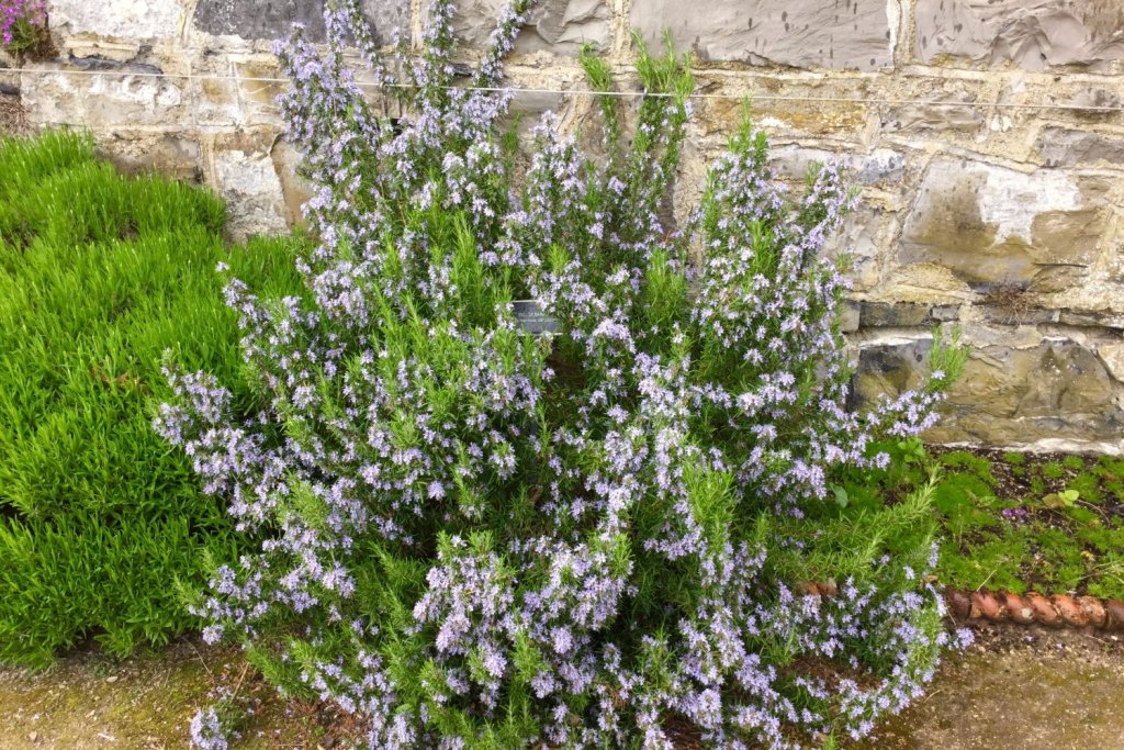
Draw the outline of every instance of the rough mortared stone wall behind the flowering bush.
<instances>
[{"instance_id":1,"label":"rough mortared stone wall behind the flowering bush","mask_svg":"<svg viewBox=\"0 0 1124 750\"><path fill-rule=\"evenodd\" d=\"M466 57L501 2L460 3ZM268 51L291 21L323 35L323 0L51 4L60 58L0 74L29 126L89 127L127 169L214 186L238 234L297 220L283 83L255 79L278 76ZM425 4L364 7L384 38L416 40ZM699 91L729 96L695 102L682 206L742 96L782 174L833 156L853 169L863 207L840 245L854 261L860 398L915 382L932 327L958 325L972 359L931 437L1124 451L1121 0L544 0L513 85L581 88L574 56L590 42L635 87L633 28L670 29ZM590 111L577 94L517 101L571 127Z\"/></svg>"}]
</instances>

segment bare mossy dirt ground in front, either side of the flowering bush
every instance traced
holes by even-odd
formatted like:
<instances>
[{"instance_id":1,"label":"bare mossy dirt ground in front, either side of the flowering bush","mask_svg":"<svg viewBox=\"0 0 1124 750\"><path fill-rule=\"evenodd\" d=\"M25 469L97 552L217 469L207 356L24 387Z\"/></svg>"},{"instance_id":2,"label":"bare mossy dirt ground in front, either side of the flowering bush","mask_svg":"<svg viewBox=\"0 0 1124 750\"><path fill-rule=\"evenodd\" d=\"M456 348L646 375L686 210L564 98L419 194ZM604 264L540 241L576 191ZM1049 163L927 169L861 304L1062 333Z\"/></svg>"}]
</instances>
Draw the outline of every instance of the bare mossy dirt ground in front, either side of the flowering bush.
<instances>
[{"instance_id":1,"label":"bare mossy dirt ground in front, either side of the flowering bush","mask_svg":"<svg viewBox=\"0 0 1124 750\"><path fill-rule=\"evenodd\" d=\"M339 724L281 702L236 650L194 641L112 661L80 650L40 672L0 669L0 749L171 750L217 685L256 706L234 750L330 748ZM335 729L334 729L335 728ZM925 698L854 750L1124 749L1124 639L998 626L950 656Z\"/></svg>"}]
</instances>

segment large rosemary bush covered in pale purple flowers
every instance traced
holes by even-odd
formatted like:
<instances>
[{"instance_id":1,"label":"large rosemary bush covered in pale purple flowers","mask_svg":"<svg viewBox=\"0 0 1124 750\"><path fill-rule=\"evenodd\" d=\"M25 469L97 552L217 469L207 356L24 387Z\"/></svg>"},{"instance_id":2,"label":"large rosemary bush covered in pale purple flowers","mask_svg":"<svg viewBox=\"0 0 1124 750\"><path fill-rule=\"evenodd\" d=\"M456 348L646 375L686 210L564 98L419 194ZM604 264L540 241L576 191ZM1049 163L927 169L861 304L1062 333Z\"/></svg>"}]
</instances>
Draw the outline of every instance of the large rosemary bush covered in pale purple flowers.
<instances>
[{"instance_id":1,"label":"large rosemary bush covered in pale purple flowers","mask_svg":"<svg viewBox=\"0 0 1124 750\"><path fill-rule=\"evenodd\" d=\"M604 154L547 116L519 166L509 96L481 89L528 4L472 89L452 85L450 0L416 57L386 62L356 2L326 13L326 53L299 33L279 48L318 186L306 291L228 281L260 414L233 418L220 379L170 362L156 421L265 540L193 603L205 635L364 717L372 748L859 737L946 636L922 582L928 490L844 508L833 478L932 424L962 354L939 344L924 389L845 408L845 283L822 250L854 195L823 166L789 196L749 124L689 220L660 218L692 90L670 49L636 40L635 117L599 98ZM369 106L351 43L401 121ZM524 333L522 298L560 329Z\"/></svg>"}]
</instances>

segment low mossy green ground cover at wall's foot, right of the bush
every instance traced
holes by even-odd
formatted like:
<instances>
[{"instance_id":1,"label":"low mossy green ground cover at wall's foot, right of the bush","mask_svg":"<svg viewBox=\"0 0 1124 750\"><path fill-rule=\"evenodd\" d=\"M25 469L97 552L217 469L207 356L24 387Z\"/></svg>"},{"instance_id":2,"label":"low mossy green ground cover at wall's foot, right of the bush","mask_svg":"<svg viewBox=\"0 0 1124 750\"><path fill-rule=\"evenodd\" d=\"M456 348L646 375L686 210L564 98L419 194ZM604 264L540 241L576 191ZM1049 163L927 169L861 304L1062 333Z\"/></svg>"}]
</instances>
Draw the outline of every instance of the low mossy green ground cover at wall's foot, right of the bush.
<instances>
[{"instance_id":1,"label":"low mossy green ground cover at wall's foot, right of the bush","mask_svg":"<svg viewBox=\"0 0 1124 750\"><path fill-rule=\"evenodd\" d=\"M942 585L1124 599L1124 459L916 448L888 446L914 459L847 487L877 504L940 469Z\"/></svg>"}]
</instances>

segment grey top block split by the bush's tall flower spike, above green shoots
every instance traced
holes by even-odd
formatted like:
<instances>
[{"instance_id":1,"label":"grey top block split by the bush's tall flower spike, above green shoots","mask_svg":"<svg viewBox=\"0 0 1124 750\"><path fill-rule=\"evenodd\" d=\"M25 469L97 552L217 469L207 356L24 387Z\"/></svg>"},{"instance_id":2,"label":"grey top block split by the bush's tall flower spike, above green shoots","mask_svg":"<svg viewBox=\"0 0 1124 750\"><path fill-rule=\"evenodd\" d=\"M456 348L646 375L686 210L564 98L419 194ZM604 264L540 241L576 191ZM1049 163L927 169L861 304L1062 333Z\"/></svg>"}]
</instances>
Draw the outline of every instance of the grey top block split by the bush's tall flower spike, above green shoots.
<instances>
[{"instance_id":1,"label":"grey top block split by the bush's tall flower spike, above green shoots","mask_svg":"<svg viewBox=\"0 0 1124 750\"><path fill-rule=\"evenodd\" d=\"M469 47L486 48L508 4L508 0L461 0L453 18L457 38ZM515 49L524 53L550 49L572 55L587 42L597 49L605 49L611 38L609 0L541 0L516 39Z\"/></svg>"}]
</instances>

